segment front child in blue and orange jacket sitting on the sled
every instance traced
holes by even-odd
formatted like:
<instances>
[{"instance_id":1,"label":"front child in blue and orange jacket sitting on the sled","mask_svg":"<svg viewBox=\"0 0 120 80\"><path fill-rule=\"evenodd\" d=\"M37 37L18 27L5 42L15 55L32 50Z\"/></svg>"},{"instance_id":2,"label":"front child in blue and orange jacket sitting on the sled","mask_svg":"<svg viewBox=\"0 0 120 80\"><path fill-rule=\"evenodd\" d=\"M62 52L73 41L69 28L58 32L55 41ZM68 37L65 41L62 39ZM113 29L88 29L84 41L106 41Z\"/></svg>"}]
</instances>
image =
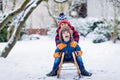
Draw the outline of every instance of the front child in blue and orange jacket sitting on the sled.
<instances>
[{"instance_id":1,"label":"front child in blue and orange jacket sitting on the sled","mask_svg":"<svg viewBox=\"0 0 120 80\"><path fill-rule=\"evenodd\" d=\"M59 39L61 41L60 44L58 44L57 49L55 50L54 53L54 65L52 68L52 71L50 73L47 74L47 76L56 76L57 75L57 70L59 68L59 64L60 64L60 60L61 60L61 52L65 53L64 56L64 62L66 61L74 61L73 57L72 57L72 52L76 51L76 60L79 66L79 69L81 71L81 74L83 76L91 76L92 73L89 73L86 71L83 61L82 61L82 51L81 48L79 47L79 45L73 41L73 37L72 37L72 32L69 28L62 28L60 30L60 34L59 34Z\"/></svg>"}]
</instances>

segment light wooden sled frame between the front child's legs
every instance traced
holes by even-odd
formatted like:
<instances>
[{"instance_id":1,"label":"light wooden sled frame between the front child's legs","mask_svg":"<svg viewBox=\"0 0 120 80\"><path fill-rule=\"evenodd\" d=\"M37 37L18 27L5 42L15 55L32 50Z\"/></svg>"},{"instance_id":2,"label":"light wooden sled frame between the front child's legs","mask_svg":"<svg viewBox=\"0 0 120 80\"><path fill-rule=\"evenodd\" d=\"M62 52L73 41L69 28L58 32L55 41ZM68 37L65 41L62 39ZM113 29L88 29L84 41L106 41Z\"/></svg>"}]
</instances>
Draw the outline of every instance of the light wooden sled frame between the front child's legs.
<instances>
[{"instance_id":1,"label":"light wooden sled frame between the front child's legs","mask_svg":"<svg viewBox=\"0 0 120 80\"><path fill-rule=\"evenodd\" d=\"M72 52L72 56L73 56L74 62L63 62L63 60L64 60L64 55L65 55L65 53L63 52L63 53L62 53L62 56L61 56L61 61L60 61L60 64L59 64L59 68L58 68L58 71L57 71L57 78L60 77L60 71L61 71L61 69L62 69L62 64L66 64L66 63L73 63L73 64L76 66L77 73L78 73L78 76L79 76L79 78L80 78L80 77L81 77L81 71L80 71L80 69L79 69L79 67L78 67L78 63L77 63L77 61L76 61L75 52Z\"/></svg>"}]
</instances>

